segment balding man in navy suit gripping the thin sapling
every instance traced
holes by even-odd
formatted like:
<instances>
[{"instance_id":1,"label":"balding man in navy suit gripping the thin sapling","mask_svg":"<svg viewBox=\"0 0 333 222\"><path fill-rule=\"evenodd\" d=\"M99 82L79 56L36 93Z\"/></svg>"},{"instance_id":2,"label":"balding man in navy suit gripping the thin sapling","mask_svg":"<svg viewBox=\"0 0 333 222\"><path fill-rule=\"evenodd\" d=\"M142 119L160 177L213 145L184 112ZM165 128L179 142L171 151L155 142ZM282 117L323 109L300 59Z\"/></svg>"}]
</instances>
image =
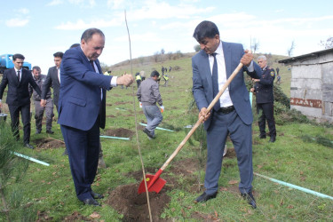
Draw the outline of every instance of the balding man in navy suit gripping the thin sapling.
<instances>
[{"instance_id":1,"label":"balding man in navy suit gripping the thin sapling","mask_svg":"<svg viewBox=\"0 0 333 222\"><path fill-rule=\"evenodd\" d=\"M103 75L99 55L105 36L98 28L83 32L81 46L65 52L60 66L59 120L77 198L99 206L103 198L91 190L99 162L99 127L105 127L106 90L129 86L131 75Z\"/></svg>"}]
</instances>

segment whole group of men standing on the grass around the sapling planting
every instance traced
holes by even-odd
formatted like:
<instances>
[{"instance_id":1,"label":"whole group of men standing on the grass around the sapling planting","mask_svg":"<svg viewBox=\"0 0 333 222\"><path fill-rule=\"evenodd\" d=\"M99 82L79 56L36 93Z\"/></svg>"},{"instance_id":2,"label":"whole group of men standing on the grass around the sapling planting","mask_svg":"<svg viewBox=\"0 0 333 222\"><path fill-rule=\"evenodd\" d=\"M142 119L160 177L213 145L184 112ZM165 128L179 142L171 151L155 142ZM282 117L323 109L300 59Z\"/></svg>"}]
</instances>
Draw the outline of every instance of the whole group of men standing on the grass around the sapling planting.
<instances>
[{"instance_id":1,"label":"whole group of men standing on the grass around the sapling planting","mask_svg":"<svg viewBox=\"0 0 333 222\"><path fill-rule=\"evenodd\" d=\"M265 123L268 122L270 142L276 139L274 124L273 83L274 69L267 67L266 57L253 60L251 52L244 51L242 44L226 43L220 39L218 27L211 21L202 21L194 30L194 38L201 51L192 58L193 94L199 109L198 118L203 120L207 134L207 165L204 178L205 191L195 202L206 202L218 194L226 138L234 143L241 181L239 190L252 208L257 203L252 193L252 122L249 91L244 83L242 72L253 79L251 89L257 96L260 138L266 138ZM22 117L24 146L30 145L30 97L34 100L36 134L42 132L42 119L46 115L46 133L52 134L53 105L56 107L58 123L66 144L70 170L75 185L76 197L84 204L99 206L91 184L96 176L99 157L102 153L99 141L99 128L106 124L107 91L117 85L130 86L137 82L137 97L147 118L144 132L149 139L155 139L155 128L163 120L163 99L159 91L159 81L169 81L166 73L171 67L162 67L162 76L156 70L146 78L145 72L132 75L103 75L99 55L103 52L105 36L98 28L83 32L81 43L70 47L67 52L53 54L54 67L47 75L41 75L40 67L33 67L32 73L22 68L24 56L13 55L14 68L6 70L0 84L0 107L4 89L8 85L6 102L12 119L12 132L20 139L19 116ZM210 112L207 112L218 91L226 80L243 64L241 74L236 75L226 91L218 99ZM53 87L53 97L50 87ZM157 107L157 104L160 107ZM82 121L84 120L84 121Z\"/></svg>"}]
</instances>

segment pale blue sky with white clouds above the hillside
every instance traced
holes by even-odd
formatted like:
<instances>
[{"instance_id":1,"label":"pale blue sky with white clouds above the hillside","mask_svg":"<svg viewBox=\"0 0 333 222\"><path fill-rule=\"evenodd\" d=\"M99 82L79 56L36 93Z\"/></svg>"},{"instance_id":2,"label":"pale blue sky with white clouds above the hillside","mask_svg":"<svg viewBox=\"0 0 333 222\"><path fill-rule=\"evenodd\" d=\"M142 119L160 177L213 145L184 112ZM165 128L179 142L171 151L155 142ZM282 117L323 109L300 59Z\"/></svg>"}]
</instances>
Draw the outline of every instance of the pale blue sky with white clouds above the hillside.
<instances>
[{"instance_id":1,"label":"pale blue sky with white clouds above the hillside","mask_svg":"<svg viewBox=\"0 0 333 222\"><path fill-rule=\"evenodd\" d=\"M132 58L161 49L194 52L192 35L202 20L215 22L223 41L250 48L250 39L256 39L262 53L288 55L294 41L297 56L323 50L321 40L333 36L332 8L332 0L2 1L0 54L21 53L47 74L54 52L80 43L86 28L99 28L106 36L99 60L113 65L130 59L126 10Z\"/></svg>"}]
</instances>

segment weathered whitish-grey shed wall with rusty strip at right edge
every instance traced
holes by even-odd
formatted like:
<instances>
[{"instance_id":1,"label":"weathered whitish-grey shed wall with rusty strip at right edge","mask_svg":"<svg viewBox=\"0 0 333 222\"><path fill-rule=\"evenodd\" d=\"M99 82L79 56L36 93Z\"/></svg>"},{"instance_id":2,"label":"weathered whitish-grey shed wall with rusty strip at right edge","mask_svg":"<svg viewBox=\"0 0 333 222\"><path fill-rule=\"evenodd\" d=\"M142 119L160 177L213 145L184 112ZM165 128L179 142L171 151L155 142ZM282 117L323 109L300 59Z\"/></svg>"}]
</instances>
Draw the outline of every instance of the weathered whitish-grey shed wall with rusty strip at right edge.
<instances>
[{"instance_id":1,"label":"weathered whitish-grey shed wall with rusty strip at right edge","mask_svg":"<svg viewBox=\"0 0 333 222\"><path fill-rule=\"evenodd\" d=\"M333 55L322 54L290 63L290 107L333 123Z\"/></svg>"}]
</instances>

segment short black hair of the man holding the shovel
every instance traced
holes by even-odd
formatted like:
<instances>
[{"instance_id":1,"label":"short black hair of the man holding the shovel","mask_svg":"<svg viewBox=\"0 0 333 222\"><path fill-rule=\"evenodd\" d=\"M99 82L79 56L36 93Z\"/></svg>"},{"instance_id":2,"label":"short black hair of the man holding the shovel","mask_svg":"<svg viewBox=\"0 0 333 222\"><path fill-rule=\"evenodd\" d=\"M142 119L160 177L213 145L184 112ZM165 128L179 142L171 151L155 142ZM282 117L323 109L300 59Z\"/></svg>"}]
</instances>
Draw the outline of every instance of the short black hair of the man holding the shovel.
<instances>
[{"instance_id":1,"label":"short black hair of the man holding the shovel","mask_svg":"<svg viewBox=\"0 0 333 222\"><path fill-rule=\"evenodd\" d=\"M194 29L193 34L197 42L202 41L205 37L213 38L216 35L219 36L218 27L214 22L209 20L203 20L200 22L200 24Z\"/></svg>"}]
</instances>

